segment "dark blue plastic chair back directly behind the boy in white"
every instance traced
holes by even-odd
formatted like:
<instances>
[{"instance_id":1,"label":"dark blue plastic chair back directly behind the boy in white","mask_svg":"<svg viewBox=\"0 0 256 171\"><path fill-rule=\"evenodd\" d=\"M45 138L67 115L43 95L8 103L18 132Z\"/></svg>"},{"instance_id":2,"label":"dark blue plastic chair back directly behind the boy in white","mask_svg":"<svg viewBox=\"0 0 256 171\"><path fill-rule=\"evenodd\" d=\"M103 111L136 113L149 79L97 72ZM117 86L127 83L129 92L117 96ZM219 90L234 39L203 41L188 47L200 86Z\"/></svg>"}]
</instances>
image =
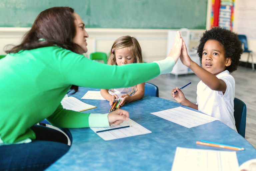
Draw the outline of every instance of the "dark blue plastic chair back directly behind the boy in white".
<instances>
[{"instance_id":1,"label":"dark blue plastic chair back directly behind the boy in white","mask_svg":"<svg viewBox=\"0 0 256 171\"><path fill-rule=\"evenodd\" d=\"M237 132L245 137L246 104L238 98L234 99L234 117Z\"/></svg>"}]
</instances>

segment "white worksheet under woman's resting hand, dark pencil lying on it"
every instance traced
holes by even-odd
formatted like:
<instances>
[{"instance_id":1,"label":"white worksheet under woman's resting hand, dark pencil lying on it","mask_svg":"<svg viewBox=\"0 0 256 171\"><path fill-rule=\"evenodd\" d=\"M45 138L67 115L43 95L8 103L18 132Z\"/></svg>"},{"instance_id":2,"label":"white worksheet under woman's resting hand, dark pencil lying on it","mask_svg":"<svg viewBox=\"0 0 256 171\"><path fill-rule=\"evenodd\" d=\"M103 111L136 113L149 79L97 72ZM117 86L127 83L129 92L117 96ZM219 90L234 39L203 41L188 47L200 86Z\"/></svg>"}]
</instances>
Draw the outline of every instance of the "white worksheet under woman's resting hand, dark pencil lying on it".
<instances>
[{"instance_id":1,"label":"white worksheet under woman's resting hand, dark pencil lying on it","mask_svg":"<svg viewBox=\"0 0 256 171\"><path fill-rule=\"evenodd\" d=\"M130 127L96 133L96 131L123 127L127 125L130 125ZM91 129L105 141L151 133L151 131L131 119L129 119L128 121L124 121L120 125L111 125L111 127Z\"/></svg>"}]
</instances>

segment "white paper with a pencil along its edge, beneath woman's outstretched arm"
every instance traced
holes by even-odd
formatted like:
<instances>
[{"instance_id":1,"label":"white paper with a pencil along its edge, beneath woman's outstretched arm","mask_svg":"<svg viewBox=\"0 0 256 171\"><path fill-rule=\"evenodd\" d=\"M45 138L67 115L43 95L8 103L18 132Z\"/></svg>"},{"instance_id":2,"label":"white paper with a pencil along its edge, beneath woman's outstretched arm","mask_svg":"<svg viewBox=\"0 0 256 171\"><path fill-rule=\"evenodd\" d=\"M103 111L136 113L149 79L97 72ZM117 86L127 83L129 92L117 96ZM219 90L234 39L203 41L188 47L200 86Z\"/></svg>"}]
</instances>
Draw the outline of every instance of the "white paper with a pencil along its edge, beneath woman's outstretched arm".
<instances>
[{"instance_id":1,"label":"white paper with a pencil along its edge, beneath woman's outstretched arm","mask_svg":"<svg viewBox=\"0 0 256 171\"><path fill-rule=\"evenodd\" d=\"M84 102L82 102L82 101L80 101L77 98L72 97L72 96L64 97L61 101L61 104L62 104L64 109L74 110L74 111L77 111L77 112L81 112L81 111L84 111L84 110L89 110L89 109L96 108L96 106L84 103Z\"/></svg>"}]
</instances>

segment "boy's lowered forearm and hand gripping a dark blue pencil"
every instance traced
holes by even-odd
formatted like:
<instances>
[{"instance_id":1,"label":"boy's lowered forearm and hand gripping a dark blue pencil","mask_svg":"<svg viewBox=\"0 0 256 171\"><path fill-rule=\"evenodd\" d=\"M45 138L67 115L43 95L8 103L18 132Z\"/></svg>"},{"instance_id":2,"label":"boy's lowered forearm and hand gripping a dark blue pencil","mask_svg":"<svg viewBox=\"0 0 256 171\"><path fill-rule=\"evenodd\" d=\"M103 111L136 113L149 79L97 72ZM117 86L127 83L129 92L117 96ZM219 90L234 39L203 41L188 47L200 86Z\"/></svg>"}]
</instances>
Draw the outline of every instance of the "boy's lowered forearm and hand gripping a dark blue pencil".
<instances>
[{"instance_id":1,"label":"boy's lowered forearm and hand gripping a dark blue pencil","mask_svg":"<svg viewBox=\"0 0 256 171\"><path fill-rule=\"evenodd\" d=\"M175 93L176 91L177 91L177 93ZM192 103L191 101L189 101L189 100L185 97L184 93L183 93L180 89L178 89L178 87L176 87L176 89L173 89L171 93L172 93L172 97L173 97L177 102L179 102L180 104L198 110L198 105L196 105L196 104ZM175 93L175 94L174 94L174 93Z\"/></svg>"}]
</instances>

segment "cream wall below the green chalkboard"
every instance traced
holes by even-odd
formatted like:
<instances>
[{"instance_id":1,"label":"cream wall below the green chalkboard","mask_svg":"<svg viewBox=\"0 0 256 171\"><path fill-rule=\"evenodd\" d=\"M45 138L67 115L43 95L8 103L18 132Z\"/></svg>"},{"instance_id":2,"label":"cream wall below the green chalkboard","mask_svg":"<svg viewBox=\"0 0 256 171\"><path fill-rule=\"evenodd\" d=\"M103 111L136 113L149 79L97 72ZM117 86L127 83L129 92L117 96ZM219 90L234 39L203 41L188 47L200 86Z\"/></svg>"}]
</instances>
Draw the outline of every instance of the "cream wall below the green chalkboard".
<instances>
[{"instance_id":1,"label":"cream wall below the green chalkboard","mask_svg":"<svg viewBox=\"0 0 256 171\"><path fill-rule=\"evenodd\" d=\"M8 28L0 27L0 54L4 53L7 44L17 45L22 36L30 28ZM143 59L146 62L161 60L166 57L167 31L165 29L92 29L87 28L89 34L87 39L88 54L101 51L110 52L113 42L120 36L130 35L136 37L142 48ZM191 30L197 37L204 30ZM191 41L190 49L197 46L197 40ZM88 54L85 54L88 56Z\"/></svg>"}]
</instances>

